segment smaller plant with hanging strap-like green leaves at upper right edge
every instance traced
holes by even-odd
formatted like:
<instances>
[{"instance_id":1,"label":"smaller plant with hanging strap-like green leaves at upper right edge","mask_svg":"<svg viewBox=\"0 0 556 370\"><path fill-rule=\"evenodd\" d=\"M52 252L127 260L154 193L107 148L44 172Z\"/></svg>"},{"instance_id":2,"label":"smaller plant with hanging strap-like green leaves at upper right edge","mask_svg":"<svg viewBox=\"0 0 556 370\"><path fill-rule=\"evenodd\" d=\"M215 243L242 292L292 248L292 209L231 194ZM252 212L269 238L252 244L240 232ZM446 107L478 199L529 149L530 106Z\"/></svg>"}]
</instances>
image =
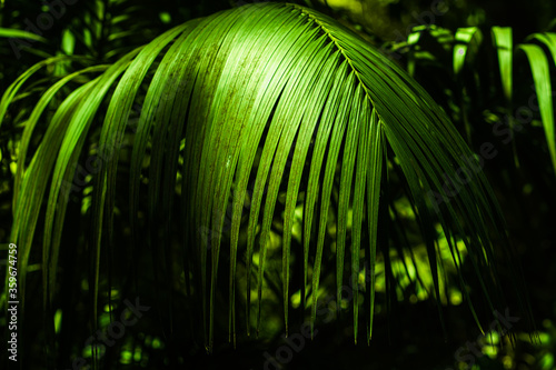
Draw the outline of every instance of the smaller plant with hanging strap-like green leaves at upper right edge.
<instances>
[{"instance_id":1,"label":"smaller plant with hanging strap-like green leaves at upper right edge","mask_svg":"<svg viewBox=\"0 0 556 370\"><path fill-rule=\"evenodd\" d=\"M396 44L390 52L407 54L410 74L415 73L417 66L437 71L437 78L425 83L429 91L436 92L438 100L444 101L451 119L465 128L469 144L473 131L480 129L471 124L473 120L494 124L493 130L504 136L505 143L514 141L516 132L529 123L542 127L547 149L545 156L550 158L552 171L556 173L550 68L553 63L556 66L556 33L534 33L526 38L526 42L514 46L510 27L493 27L490 31L493 48L485 46L485 37L478 27L460 28L454 33L437 27L419 27L414 29L407 42ZM480 62L489 57L497 60L498 68L485 72ZM493 89L492 77L496 74L499 84ZM451 81L447 83L447 80ZM480 93L489 84L495 93ZM516 89L516 84L527 84L530 89ZM498 98L493 101L495 96ZM478 113L477 117L473 117L474 113ZM504 129L500 129L500 123ZM515 150L515 142L513 148ZM517 163L517 153L514 154Z\"/></svg>"}]
</instances>

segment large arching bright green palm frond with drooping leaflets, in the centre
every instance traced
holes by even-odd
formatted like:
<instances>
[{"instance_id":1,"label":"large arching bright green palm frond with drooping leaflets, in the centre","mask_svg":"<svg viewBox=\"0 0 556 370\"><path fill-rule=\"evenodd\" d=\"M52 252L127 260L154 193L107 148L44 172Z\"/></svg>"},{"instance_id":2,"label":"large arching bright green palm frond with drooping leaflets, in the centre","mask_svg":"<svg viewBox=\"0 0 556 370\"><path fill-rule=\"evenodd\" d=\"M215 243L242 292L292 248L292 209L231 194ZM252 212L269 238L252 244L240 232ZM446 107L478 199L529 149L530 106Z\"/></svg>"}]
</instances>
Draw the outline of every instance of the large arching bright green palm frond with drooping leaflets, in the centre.
<instances>
[{"instance_id":1,"label":"large arching bright green palm frond with drooping leaflets, in the centre","mask_svg":"<svg viewBox=\"0 0 556 370\"><path fill-rule=\"evenodd\" d=\"M20 246L20 273L24 277L34 226L50 183L42 247L44 287L49 291L44 304L49 304L54 292L57 256L73 173L91 124L101 114L99 107L110 97L97 146L99 160L90 173L95 178L91 291L97 306L101 241L110 243L113 233L119 152L123 134L129 130L131 108L138 98L142 99L141 87L146 84L148 91L130 164L132 234L139 229L140 183L147 177L143 162L149 158L148 220L162 226L161 232L149 229L149 238L152 246L165 246L157 247L157 251L163 253L165 230L171 221L170 209L177 197L175 189L181 186L183 220L180 222L185 228L186 266L195 269L199 263L192 284L201 297L209 349L214 341L217 274L222 268L222 248L228 242L222 239L228 207L232 210L229 326L230 336L235 336L237 263L242 248L247 270L247 332L251 316L250 272L256 251L259 256L257 329L260 324L266 256L281 184L287 187L281 241L286 328L292 220L299 203L304 207L299 253L304 259L302 299L305 301L310 289L314 294L311 322L315 322L325 233L338 166L341 169L337 294L340 296L344 283L346 248L350 248L353 258L349 278L354 286L364 250L370 261L367 274L370 278L365 281L370 293L367 328L370 339L377 236L384 232L378 224L380 217L388 217L388 199L384 199L381 190L384 194L389 148L407 179L415 203L436 297L439 297L441 261L437 259L434 224L439 221L456 266L461 263L456 240L460 238L465 242L488 306L494 309L490 300L498 298L499 282L493 261L493 240L498 237L503 242L506 240L504 222L485 176L471 169L478 168L478 161L447 116L407 73L331 18L299 6L275 3L245 6L177 27L75 90L56 111L31 163L27 168L23 168L24 161L19 164L22 182L14 200L12 231L12 240ZM116 87L113 92L112 87ZM0 107L7 107L14 93L4 96ZM37 109L44 107L46 102ZM40 111L33 112L32 120L40 114ZM28 124L28 130L32 127ZM30 137L24 138L30 140ZM180 157L182 168L179 168ZM179 183L177 172L182 173ZM249 193L251 177L255 188ZM448 188L457 181L460 186L450 191ZM380 208L386 212L379 211ZM350 212L353 223L348 222ZM246 218L242 243L240 230ZM215 237L207 240L200 230L210 230ZM492 230L498 236L495 239ZM311 246L316 249L309 277ZM309 278L311 284L306 288ZM475 314L465 277L460 274L459 279ZM23 291L24 281L21 283ZM354 293L357 294L357 290ZM439 302L438 308L441 312ZM93 312L95 320L96 317ZM357 340L358 304L354 304L354 336Z\"/></svg>"}]
</instances>

